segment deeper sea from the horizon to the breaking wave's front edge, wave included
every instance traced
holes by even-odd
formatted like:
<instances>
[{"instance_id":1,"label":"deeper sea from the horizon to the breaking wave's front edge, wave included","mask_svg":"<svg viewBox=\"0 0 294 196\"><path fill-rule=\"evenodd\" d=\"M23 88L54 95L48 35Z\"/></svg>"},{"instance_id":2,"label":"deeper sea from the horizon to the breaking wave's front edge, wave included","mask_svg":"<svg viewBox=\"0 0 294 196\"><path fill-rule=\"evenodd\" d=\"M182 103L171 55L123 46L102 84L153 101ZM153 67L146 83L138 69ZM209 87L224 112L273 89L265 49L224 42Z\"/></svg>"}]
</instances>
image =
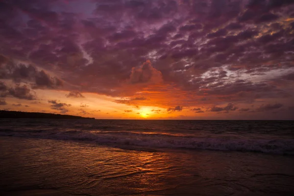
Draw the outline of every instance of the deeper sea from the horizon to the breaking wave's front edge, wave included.
<instances>
[{"instance_id":1,"label":"deeper sea from the horizon to the breaking wave's front edge, wave included","mask_svg":"<svg viewBox=\"0 0 294 196\"><path fill-rule=\"evenodd\" d=\"M100 145L294 154L294 121L2 119L0 136Z\"/></svg>"}]
</instances>

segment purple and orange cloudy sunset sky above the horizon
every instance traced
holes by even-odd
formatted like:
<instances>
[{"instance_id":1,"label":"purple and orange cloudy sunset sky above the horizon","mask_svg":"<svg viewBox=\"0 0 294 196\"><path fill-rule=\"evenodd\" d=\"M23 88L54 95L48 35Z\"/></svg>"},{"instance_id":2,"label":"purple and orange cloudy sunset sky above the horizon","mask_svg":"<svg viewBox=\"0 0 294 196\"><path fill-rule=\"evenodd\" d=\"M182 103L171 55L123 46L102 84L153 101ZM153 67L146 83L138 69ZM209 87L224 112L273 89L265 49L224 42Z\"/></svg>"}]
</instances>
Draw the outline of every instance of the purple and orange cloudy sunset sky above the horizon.
<instances>
[{"instance_id":1,"label":"purple and orange cloudy sunset sky above the horizon","mask_svg":"<svg viewBox=\"0 0 294 196\"><path fill-rule=\"evenodd\" d=\"M0 0L0 109L294 120L294 1Z\"/></svg>"}]
</instances>

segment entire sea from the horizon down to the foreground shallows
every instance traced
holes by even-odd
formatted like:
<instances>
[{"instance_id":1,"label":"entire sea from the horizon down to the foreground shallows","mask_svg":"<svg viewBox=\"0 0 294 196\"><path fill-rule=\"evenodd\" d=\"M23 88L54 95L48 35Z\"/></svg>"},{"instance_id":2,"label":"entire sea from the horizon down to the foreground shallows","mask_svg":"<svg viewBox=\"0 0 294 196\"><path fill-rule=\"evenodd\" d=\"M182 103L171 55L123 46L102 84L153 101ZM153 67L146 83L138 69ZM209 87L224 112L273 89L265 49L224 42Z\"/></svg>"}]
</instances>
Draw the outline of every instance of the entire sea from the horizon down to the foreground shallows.
<instances>
[{"instance_id":1,"label":"entire sea from the horizon down to the foreground shallows","mask_svg":"<svg viewBox=\"0 0 294 196\"><path fill-rule=\"evenodd\" d=\"M294 195L294 121L0 119L1 196Z\"/></svg>"}]
</instances>

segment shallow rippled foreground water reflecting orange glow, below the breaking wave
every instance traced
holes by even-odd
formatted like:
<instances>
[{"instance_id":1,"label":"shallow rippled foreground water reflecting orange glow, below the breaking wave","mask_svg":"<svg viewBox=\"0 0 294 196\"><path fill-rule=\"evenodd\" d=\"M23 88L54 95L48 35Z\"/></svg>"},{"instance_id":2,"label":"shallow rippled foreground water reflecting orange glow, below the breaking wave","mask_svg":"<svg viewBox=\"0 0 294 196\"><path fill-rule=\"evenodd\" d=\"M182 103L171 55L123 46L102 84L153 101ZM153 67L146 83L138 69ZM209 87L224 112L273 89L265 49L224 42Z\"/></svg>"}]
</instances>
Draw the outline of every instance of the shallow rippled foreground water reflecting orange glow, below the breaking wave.
<instances>
[{"instance_id":1,"label":"shallow rippled foreground water reflecting orange glow, below the breaking wave","mask_svg":"<svg viewBox=\"0 0 294 196\"><path fill-rule=\"evenodd\" d=\"M291 195L294 157L0 138L1 195ZM44 194L44 193L43 193Z\"/></svg>"}]
</instances>

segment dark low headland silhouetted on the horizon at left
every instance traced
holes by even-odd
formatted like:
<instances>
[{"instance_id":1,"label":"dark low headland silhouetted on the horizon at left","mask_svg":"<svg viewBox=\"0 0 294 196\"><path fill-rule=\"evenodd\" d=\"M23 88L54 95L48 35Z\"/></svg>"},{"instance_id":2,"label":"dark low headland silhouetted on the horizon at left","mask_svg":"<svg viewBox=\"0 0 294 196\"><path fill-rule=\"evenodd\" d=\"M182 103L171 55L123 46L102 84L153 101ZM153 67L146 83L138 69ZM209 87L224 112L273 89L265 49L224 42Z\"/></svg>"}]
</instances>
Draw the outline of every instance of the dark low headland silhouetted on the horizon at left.
<instances>
[{"instance_id":1,"label":"dark low headland silhouetted on the horizon at left","mask_svg":"<svg viewBox=\"0 0 294 196\"><path fill-rule=\"evenodd\" d=\"M73 115L40 113L40 112L18 112L0 110L0 118L13 118L13 119L95 119Z\"/></svg>"}]
</instances>

